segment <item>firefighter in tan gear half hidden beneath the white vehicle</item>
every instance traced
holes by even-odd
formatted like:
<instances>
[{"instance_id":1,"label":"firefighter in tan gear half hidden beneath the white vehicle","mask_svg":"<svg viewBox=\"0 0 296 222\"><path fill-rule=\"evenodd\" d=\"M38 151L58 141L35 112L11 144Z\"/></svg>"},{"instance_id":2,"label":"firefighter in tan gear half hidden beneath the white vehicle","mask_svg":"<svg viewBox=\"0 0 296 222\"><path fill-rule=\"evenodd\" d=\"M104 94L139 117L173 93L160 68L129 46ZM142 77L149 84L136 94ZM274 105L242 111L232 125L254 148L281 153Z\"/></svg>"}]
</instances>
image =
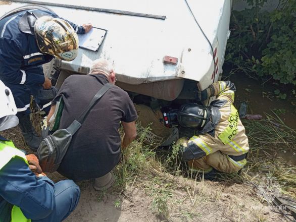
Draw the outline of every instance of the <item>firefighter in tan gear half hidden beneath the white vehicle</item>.
<instances>
[{"instance_id":1,"label":"firefighter in tan gear half hidden beneath the white vehicle","mask_svg":"<svg viewBox=\"0 0 296 222\"><path fill-rule=\"evenodd\" d=\"M137 110L141 128L149 127L145 133L144 143L147 145L169 146L178 139L177 109L152 109L147 105L134 105Z\"/></svg>"}]
</instances>

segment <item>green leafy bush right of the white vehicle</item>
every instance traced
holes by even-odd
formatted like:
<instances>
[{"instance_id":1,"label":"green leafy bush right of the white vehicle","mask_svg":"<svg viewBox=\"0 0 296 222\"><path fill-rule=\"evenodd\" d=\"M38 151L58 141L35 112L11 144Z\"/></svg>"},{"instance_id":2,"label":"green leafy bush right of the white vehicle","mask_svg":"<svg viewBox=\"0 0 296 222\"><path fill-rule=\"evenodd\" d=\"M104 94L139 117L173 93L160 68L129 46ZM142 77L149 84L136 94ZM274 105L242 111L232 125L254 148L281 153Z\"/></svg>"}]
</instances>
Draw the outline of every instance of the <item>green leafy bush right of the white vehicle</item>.
<instances>
[{"instance_id":1,"label":"green leafy bush right of the white vehicle","mask_svg":"<svg viewBox=\"0 0 296 222\"><path fill-rule=\"evenodd\" d=\"M261 10L268 0L246 2L251 9L232 12L226 64L296 85L296 0L281 0L271 12Z\"/></svg>"}]
</instances>

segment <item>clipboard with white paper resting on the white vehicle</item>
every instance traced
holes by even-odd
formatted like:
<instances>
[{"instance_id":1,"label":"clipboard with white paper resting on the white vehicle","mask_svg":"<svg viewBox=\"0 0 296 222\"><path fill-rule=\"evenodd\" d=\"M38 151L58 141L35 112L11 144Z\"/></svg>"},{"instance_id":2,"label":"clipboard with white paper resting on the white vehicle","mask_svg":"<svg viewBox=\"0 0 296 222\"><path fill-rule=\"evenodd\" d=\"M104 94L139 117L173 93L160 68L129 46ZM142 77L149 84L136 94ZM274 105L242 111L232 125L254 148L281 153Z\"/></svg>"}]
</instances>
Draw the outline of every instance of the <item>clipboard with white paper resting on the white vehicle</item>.
<instances>
[{"instance_id":1,"label":"clipboard with white paper resting on the white vehicle","mask_svg":"<svg viewBox=\"0 0 296 222\"><path fill-rule=\"evenodd\" d=\"M79 47L91 51L97 51L102 44L106 33L106 29L92 27L89 32L85 34L78 34Z\"/></svg>"}]
</instances>

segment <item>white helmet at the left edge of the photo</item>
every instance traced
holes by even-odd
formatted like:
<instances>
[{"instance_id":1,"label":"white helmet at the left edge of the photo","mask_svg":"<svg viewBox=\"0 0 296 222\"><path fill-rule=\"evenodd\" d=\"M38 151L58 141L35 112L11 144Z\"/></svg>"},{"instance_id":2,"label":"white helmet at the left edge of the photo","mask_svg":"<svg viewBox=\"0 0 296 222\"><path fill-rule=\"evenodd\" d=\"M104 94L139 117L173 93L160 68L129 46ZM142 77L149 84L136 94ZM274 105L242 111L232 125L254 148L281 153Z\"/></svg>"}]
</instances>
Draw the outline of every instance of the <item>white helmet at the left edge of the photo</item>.
<instances>
[{"instance_id":1,"label":"white helmet at the left edge of the photo","mask_svg":"<svg viewBox=\"0 0 296 222\"><path fill-rule=\"evenodd\" d=\"M14 101L12 92L0 80L0 131L13 128L19 124L17 118L17 106Z\"/></svg>"}]
</instances>

